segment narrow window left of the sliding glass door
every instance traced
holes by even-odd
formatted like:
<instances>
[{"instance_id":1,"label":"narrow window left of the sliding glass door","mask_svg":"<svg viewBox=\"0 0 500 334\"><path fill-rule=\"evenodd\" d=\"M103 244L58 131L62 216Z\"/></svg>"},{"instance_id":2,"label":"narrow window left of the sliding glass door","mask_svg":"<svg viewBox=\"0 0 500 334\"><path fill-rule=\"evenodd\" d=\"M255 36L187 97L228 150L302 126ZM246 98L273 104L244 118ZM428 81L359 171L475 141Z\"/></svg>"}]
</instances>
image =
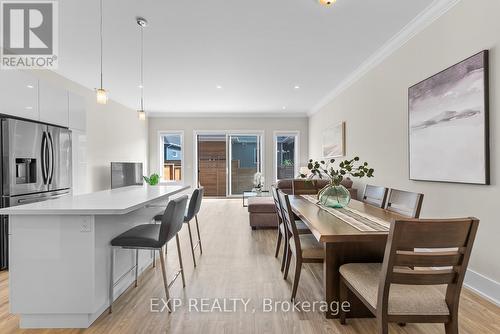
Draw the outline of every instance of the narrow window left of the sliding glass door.
<instances>
[{"instance_id":1,"label":"narrow window left of the sliding glass door","mask_svg":"<svg viewBox=\"0 0 500 334\"><path fill-rule=\"evenodd\" d=\"M160 175L164 182L182 181L182 139L182 132L160 133Z\"/></svg>"}]
</instances>

